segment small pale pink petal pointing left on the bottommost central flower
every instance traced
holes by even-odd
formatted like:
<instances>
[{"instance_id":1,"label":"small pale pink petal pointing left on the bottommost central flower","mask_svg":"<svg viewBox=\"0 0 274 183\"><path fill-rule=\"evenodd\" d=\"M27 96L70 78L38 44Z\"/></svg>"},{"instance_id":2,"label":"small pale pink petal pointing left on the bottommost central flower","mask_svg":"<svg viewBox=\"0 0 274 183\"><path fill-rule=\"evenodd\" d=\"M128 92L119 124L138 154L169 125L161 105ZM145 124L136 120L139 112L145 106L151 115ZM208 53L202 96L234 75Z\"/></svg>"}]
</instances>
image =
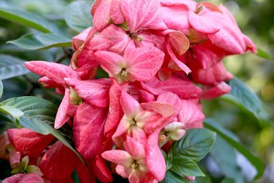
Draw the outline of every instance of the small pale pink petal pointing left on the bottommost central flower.
<instances>
[{"instance_id":1,"label":"small pale pink petal pointing left on the bottommost central flower","mask_svg":"<svg viewBox=\"0 0 274 183\"><path fill-rule=\"evenodd\" d=\"M129 155L127 151L122 150L110 150L104 151L101 156L110 162L114 162L115 164L120 164L123 167L131 167L132 166L132 157Z\"/></svg>"}]
</instances>

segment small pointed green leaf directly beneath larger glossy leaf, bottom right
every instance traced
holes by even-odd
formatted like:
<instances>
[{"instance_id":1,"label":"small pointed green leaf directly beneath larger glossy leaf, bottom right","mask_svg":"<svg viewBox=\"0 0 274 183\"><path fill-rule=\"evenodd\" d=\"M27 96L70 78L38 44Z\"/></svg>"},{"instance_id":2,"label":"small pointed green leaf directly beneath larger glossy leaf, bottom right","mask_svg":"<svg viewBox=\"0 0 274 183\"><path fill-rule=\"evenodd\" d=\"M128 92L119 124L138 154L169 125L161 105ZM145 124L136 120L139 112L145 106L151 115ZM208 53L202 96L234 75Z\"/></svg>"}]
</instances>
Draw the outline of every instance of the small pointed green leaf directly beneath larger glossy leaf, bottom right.
<instances>
[{"instance_id":1,"label":"small pointed green leaf directly beneath larger glossy leaf, bottom right","mask_svg":"<svg viewBox=\"0 0 274 183\"><path fill-rule=\"evenodd\" d=\"M188 176L205 176L203 171L199 168L198 164L186 157L175 157L171 160L171 171L177 173L178 175L184 177Z\"/></svg>"}]
</instances>

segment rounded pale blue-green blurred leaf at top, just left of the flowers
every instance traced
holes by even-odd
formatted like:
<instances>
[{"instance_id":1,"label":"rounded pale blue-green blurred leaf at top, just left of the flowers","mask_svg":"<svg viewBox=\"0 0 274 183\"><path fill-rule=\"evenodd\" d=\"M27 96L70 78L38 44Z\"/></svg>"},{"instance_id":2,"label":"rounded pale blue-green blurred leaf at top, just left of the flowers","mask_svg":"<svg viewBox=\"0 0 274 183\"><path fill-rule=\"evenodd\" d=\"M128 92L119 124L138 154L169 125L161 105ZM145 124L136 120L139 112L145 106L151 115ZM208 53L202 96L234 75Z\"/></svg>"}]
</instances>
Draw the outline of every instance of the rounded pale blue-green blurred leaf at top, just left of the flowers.
<instances>
[{"instance_id":1,"label":"rounded pale blue-green blurred leaf at top, just left of the flowers","mask_svg":"<svg viewBox=\"0 0 274 183\"><path fill-rule=\"evenodd\" d=\"M74 1L66 7L64 14L66 24L72 29L82 32L92 26L90 8L94 1Z\"/></svg>"}]
</instances>

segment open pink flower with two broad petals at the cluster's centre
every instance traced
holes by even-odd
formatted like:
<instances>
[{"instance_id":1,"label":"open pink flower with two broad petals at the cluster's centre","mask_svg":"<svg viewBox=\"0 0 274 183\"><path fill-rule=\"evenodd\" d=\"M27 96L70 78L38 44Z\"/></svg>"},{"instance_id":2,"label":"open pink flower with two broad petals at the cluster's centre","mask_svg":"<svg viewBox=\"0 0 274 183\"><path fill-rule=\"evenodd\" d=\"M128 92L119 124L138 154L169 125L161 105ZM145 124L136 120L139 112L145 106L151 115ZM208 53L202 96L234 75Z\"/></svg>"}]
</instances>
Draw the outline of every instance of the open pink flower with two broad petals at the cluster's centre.
<instances>
[{"instance_id":1,"label":"open pink flower with two broad petals at the cluster's centre","mask_svg":"<svg viewBox=\"0 0 274 183\"><path fill-rule=\"evenodd\" d=\"M160 69L164 53L155 47L127 49L122 57L110 51L97 51L102 68L118 82L147 81Z\"/></svg>"}]
</instances>

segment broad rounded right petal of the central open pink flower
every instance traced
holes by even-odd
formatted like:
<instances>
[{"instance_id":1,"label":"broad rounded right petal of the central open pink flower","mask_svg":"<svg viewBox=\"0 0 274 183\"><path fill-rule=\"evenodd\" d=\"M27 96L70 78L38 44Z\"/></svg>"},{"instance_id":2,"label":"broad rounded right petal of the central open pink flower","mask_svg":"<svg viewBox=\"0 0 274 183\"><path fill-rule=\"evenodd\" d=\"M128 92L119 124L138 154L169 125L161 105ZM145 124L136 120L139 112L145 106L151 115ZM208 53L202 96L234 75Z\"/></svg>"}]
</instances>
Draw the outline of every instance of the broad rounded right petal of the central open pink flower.
<instances>
[{"instance_id":1,"label":"broad rounded right petal of the central open pink flower","mask_svg":"<svg viewBox=\"0 0 274 183\"><path fill-rule=\"evenodd\" d=\"M164 53L155 47L139 47L127 49L124 58L127 72L138 81L147 81L159 71Z\"/></svg>"}]
</instances>

